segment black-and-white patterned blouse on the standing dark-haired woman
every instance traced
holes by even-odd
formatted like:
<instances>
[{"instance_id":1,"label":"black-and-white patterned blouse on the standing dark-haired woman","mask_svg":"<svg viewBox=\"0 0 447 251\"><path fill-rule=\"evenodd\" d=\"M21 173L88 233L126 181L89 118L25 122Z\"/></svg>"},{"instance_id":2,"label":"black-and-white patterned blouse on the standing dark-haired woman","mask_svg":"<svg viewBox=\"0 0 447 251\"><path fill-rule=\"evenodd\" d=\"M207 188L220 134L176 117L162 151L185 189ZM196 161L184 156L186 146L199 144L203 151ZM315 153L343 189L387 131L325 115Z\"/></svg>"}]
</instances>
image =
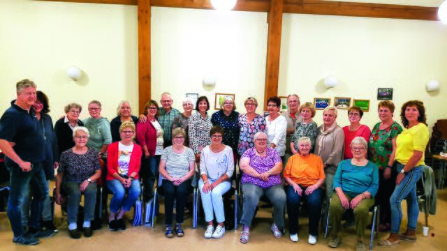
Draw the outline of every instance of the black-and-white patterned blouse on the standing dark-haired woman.
<instances>
[{"instance_id":1,"label":"black-and-white patterned blouse on the standing dark-haired woman","mask_svg":"<svg viewBox=\"0 0 447 251\"><path fill-rule=\"evenodd\" d=\"M211 144L211 118L206 114L205 119L199 112L192 114L188 121L189 147L194 154L200 153L205 146Z\"/></svg>"}]
</instances>

